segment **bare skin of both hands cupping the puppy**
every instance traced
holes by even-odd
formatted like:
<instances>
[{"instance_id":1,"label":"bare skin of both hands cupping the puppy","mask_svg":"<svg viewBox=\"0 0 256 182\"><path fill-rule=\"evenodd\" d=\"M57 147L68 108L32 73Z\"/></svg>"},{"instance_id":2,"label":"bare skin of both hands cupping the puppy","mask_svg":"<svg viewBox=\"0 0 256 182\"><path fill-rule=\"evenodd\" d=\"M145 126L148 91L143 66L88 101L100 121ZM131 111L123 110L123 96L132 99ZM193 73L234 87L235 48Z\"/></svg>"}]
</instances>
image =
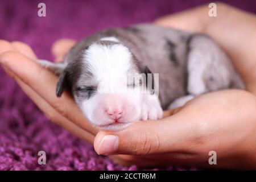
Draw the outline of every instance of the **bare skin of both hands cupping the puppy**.
<instances>
[{"instance_id":1,"label":"bare skin of both hands cupping the puppy","mask_svg":"<svg viewBox=\"0 0 256 182\"><path fill-rule=\"evenodd\" d=\"M207 93L165 111L160 121L135 122L122 131L97 131L71 96L64 93L57 98L57 76L35 63L26 44L1 40L0 63L51 121L94 143L98 154L118 163L256 169L256 17L223 3L217 3L217 17L210 18L208 10L201 6L156 23L211 36L232 59L246 90ZM56 60L73 44L72 40L55 43ZM217 152L217 165L209 165L209 151Z\"/></svg>"}]
</instances>

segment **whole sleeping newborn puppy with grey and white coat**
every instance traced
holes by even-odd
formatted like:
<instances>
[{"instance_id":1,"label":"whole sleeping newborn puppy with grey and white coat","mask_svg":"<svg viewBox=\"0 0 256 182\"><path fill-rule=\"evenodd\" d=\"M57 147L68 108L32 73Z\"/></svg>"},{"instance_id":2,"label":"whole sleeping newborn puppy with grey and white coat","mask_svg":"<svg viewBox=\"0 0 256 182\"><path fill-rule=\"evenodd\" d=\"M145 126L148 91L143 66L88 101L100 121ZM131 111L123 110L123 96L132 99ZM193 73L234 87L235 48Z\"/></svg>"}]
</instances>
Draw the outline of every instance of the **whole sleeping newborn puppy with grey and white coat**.
<instances>
[{"instance_id":1,"label":"whole sleeping newborn puppy with grey and white coat","mask_svg":"<svg viewBox=\"0 0 256 182\"><path fill-rule=\"evenodd\" d=\"M60 75L56 96L73 94L85 117L102 130L162 118L214 90L243 82L208 36L138 24L109 28L77 43L62 63L38 60Z\"/></svg>"}]
</instances>

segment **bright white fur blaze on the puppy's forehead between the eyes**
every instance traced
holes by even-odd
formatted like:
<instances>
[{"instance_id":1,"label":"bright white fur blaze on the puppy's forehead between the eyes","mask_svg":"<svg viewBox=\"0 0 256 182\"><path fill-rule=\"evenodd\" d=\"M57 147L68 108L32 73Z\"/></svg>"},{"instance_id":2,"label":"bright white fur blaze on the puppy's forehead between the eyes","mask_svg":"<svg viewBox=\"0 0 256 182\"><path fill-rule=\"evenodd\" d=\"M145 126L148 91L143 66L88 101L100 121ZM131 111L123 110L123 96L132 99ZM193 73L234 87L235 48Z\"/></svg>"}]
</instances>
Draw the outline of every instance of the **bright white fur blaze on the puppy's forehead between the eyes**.
<instances>
[{"instance_id":1,"label":"bright white fur blaze on the puppy's forehead between the eyes","mask_svg":"<svg viewBox=\"0 0 256 182\"><path fill-rule=\"evenodd\" d=\"M105 46L94 43L86 51L84 59L101 92L110 93L113 89L126 88L127 73L132 66L127 47L122 44Z\"/></svg>"}]
</instances>

